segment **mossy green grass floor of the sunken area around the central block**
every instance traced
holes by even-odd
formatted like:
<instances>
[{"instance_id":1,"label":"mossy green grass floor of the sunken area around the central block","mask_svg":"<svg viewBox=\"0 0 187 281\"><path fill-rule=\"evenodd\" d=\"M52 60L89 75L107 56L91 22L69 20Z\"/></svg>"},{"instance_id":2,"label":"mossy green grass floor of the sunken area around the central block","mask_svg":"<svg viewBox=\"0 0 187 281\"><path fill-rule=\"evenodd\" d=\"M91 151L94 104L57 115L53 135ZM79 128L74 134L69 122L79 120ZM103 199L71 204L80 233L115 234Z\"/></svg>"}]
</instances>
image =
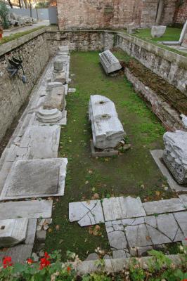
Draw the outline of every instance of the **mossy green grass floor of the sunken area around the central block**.
<instances>
[{"instance_id":1,"label":"mossy green grass floor of the sunken area around the central block","mask_svg":"<svg viewBox=\"0 0 187 281\"><path fill-rule=\"evenodd\" d=\"M68 220L68 203L100 198L131 195L143 201L172 197L165 191L162 177L150 149L162 148L165 129L159 120L138 98L131 84L124 78L107 77L103 72L98 53L72 53L72 85L76 93L67 96L67 126L61 130L59 157L68 158L65 196L56 200L53 224L46 238L46 249L61 249L63 258L67 250L81 258L96 247L108 250L104 226L100 235L89 233ZM88 103L91 94L100 93L115 102L120 120L127 131L131 150L119 157L91 158L91 129L88 121Z\"/></svg>"}]
</instances>

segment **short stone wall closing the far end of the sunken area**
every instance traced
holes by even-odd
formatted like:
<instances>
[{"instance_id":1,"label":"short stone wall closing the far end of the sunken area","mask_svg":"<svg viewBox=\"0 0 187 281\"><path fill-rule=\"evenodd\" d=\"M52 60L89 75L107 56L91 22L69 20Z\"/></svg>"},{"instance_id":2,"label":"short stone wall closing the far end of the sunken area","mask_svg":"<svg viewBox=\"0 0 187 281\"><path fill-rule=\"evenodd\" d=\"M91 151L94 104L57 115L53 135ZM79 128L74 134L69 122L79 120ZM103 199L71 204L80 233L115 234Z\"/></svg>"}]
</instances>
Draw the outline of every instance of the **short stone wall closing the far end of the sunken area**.
<instances>
[{"instance_id":1,"label":"short stone wall closing the far end of the sunken area","mask_svg":"<svg viewBox=\"0 0 187 281\"><path fill-rule=\"evenodd\" d=\"M115 44L117 34L103 31L70 31L47 32L46 39L51 55L56 53L58 46L69 46L71 51L102 51L110 49Z\"/></svg>"}]
</instances>

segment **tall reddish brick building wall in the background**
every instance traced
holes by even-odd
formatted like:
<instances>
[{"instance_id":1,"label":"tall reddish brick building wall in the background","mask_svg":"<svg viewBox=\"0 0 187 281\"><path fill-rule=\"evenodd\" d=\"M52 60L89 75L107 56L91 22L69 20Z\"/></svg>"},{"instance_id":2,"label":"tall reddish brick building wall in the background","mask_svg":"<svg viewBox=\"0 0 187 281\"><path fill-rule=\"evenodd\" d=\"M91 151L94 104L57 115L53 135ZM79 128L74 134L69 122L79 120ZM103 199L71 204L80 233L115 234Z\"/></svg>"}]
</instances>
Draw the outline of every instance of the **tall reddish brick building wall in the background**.
<instances>
[{"instance_id":1,"label":"tall reddish brick building wall in the background","mask_svg":"<svg viewBox=\"0 0 187 281\"><path fill-rule=\"evenodd\" d=\"M57 0L60 30L119 29L135 21L141 27L155 25L158 0ZM187 2L165 0L161 24L184 23Z\"/></svg>"}]
</instances>

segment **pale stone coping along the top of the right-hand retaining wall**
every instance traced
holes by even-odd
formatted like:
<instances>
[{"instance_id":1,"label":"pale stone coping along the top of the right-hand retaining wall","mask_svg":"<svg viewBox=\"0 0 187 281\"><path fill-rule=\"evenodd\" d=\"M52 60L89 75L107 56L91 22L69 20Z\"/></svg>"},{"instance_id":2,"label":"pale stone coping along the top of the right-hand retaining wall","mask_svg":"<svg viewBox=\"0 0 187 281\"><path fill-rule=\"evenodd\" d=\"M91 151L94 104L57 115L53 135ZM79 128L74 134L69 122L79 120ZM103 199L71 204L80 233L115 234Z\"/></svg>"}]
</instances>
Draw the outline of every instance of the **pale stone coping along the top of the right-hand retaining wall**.
<instances>
[{"instance_id":1,"label":"pale stone coping along the top of the right-hand retaining wall","mask_svg":"<svg viewBox=\"0 0 187 281\"><path fill-rule=\"evenodd\" d=\"M178 53L174 53L165 48L156 46L153 43L144 41L143 39L139 39L139 38L131 36L129 34L117 32L117 35L119 37L127 39L127 41L130 41L130 42L138 45L141 48L145 48L147 51L150 51L151 53L154 53L155 55L165 58L165 60L168 60L170 63L176 63L178 65L182 65L183 68L187 69L187 58L183 55L179 55Z\"/></svg>"}]
</instances>

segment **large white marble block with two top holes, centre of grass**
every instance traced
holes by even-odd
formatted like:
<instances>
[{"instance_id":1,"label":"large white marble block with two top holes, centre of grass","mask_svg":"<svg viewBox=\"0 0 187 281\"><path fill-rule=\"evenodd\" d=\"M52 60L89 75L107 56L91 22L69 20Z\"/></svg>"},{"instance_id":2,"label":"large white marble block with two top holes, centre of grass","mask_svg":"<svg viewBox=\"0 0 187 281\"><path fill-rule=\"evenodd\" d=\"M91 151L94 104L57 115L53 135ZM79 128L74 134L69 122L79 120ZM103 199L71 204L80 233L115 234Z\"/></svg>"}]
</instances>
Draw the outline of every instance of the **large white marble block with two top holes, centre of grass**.
<instances>
[{"instance_id":1,"label":"large white marble block with two top holes, centre of grass","mask_svg":"<svg viewBox=\"0 0 187 281\"><path fill-rule=\"evenodd\" d=\"M100 95L90 97L89 119L93 145L96 148L115 148L124 138L124 129L118 119L115 104L109 98Z\"/></svg>"}]
</instances>

